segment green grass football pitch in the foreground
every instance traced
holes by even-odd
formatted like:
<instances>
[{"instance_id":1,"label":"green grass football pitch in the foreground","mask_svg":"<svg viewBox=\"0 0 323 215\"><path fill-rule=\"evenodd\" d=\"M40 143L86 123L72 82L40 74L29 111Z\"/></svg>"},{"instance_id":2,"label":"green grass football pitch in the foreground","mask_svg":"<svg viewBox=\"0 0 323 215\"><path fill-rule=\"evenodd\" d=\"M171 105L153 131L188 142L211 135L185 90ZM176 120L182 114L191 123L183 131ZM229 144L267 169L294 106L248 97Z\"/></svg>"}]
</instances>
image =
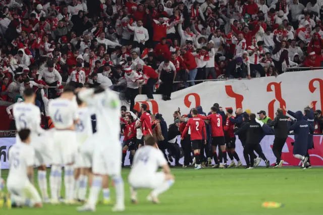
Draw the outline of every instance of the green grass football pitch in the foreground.
<instances>
[{"instance_id":1,"label":"green grass football pitch in the foreground","mask_svg":"<svg viewBox=\"0 0 323 215\"><path fill-rule=\"evenodd\" d=\"M160 204L146 201L148 190L138 192L139 204L132 205L127 176L123 170L126 211L133 215L314 215L323 214L323 169L172 169L175 184L159 196ZM6 179L8 171L3 171ZM36 177L37 178L37 177ZM111 190L115 198L114 190ZM284 204L282 208L263 208L264 201ZM0 209L1 215L79 214L76 205L45 204L43 208ZM95 214L111 214L112 206L98 205ZM85 214L90 214L86 212Z\"/></svg>"}]
</instances>

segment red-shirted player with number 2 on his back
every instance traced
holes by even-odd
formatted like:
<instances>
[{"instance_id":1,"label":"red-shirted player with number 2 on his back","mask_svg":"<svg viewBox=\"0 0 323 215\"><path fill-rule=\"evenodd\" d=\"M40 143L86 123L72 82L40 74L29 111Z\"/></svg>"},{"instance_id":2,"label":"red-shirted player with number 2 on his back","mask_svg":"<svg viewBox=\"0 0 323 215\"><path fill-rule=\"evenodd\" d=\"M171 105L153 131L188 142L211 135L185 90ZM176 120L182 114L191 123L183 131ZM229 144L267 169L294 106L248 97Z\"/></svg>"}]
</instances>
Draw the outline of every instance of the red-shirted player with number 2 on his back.
<instances>
[{"instance_id":1,"label":"red-shirted player with number 2 on his back","mask_svg":"<svg viewBox=\"0 0 323 215\"><path fill-rule=\"evenodd\" d=\"M194 151L194 156L196 160L195 170L201 169L201 161L200 161L200 149L201 145L203 144L203 139L206 139L206 130L205 130L205 123L203 120L197 117L198 111L196 109L192 110L193 118L188 119L186 127L183 131L181 140L184 140L184 137L188 131L191 129L191 144L192 149ZM203 138L203 134L204 137ZM204 144L206 144L206 140L204 140Z\"/></svg>"}]
</instances>

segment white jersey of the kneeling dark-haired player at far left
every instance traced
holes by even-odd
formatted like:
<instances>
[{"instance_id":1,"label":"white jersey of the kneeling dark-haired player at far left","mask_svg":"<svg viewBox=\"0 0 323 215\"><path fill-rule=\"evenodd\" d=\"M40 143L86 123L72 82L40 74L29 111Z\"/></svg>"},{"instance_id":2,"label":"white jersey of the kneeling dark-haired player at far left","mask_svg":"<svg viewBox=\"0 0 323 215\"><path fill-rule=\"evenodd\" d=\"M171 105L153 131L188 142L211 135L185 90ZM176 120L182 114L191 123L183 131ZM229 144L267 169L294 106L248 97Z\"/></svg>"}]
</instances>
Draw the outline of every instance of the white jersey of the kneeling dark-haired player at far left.
<instances>
[{"instance_id":1,"label":"white jersey of the kneeling dark-haired player at far left","mask_svg":"<svg viewBox=\"0 0 323 215\"><path fill-rule=\"evenodd\" d=\"M25 186L29 182L27 167L34 166L35 150L31 145L17 142L9 150L9 176L7 184Z\"/></svg>"}]
</instances>

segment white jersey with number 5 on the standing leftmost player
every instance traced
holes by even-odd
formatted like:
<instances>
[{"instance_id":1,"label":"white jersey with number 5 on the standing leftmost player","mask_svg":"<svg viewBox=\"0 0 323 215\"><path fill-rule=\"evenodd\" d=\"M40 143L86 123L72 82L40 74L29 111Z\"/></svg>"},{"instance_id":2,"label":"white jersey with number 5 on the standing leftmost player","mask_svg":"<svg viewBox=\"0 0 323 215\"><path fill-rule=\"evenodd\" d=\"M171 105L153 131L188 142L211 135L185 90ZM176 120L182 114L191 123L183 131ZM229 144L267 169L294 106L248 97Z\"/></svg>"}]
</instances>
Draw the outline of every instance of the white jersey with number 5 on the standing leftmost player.
<instances>
[{"instance_id":1,"label":"white jersey with number 5 on the standing leftmost player","mask_svg":"<svg viewBox=\"0 0 323 215\"><path fill-rule=\"evenodd\" d=\"M19 102L14 105L13 114L17 131L29 129L32 133L42 133L40 110L32 103Z\"/></svg>"}]
</instances>

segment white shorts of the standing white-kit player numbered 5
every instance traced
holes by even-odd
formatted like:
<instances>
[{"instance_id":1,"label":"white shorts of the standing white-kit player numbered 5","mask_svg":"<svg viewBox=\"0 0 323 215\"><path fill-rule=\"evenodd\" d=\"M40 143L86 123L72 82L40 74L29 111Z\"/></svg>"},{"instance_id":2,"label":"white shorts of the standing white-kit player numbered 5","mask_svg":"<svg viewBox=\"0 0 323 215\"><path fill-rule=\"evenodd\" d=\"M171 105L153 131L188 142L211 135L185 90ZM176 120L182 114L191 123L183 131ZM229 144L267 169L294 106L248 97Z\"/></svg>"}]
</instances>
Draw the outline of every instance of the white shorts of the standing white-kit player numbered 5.
<instances>
[{"instance_id":1,"label":"white shorts of the standing white-kit player numbered 5","mask_svg":"<svg viewBox=\"0 0 323 215\"><path fill-rule=\"evenodd\" d=\"M35 149L35 166L50 165L53 154L53 139L51 131L46 131L40 135L33 133L31 135L30 145ZM21 141L19 136L17 142Z\"/></svg>"}]
</instances>

